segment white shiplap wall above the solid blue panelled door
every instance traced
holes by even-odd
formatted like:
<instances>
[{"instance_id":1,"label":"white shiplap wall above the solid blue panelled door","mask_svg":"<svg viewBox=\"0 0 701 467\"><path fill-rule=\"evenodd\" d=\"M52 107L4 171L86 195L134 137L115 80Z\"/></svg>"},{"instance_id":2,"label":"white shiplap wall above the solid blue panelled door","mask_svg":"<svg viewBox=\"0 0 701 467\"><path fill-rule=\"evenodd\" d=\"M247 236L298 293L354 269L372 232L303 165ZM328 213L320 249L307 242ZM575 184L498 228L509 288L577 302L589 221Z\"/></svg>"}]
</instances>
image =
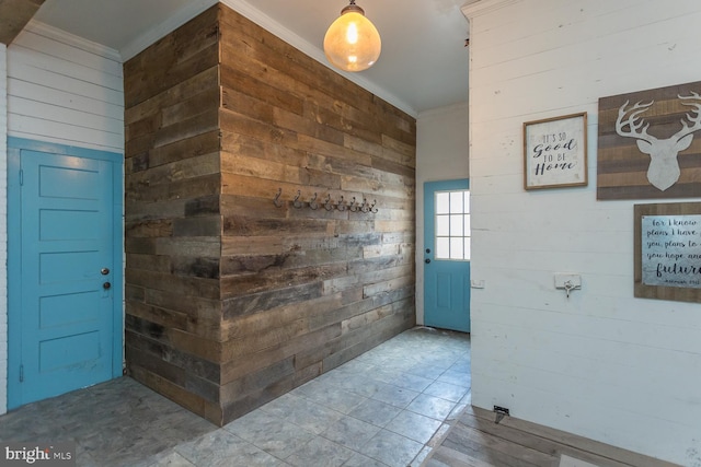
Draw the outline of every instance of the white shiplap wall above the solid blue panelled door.
<instances>
[{"instance_id":1,"label":"white shiplap wall above the solid blue panelled door","mask_svg":"<svg viewBox=\"0 0 701 467\"><path fill-rule=\"evenodd\" d=\"M119 55L31 22L0 52L0 137L124 152L124 87ZM3 89L7 77L7 92ZM7 148L2 144L2 151ZM0 153L0 265L7 256L7 153ZM0 271L0 413L7 404L7 269Z\"/></svg>"}]
</instances>

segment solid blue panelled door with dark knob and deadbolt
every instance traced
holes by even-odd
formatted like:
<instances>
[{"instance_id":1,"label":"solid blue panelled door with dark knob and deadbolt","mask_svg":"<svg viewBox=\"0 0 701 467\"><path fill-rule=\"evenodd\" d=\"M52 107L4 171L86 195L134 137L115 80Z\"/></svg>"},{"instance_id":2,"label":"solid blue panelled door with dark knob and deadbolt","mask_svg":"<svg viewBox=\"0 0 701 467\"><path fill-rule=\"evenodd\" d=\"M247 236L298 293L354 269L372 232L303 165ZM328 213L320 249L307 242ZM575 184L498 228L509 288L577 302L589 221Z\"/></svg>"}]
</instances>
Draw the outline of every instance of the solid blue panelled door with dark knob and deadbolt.
<instances>
[{"instance_id":1,"label":"solid blue panelled door with dark knob and deadbolt","mask_svg":"<svg viewBox=\"0 0 701 467\"><path fill-rule=\"evenodd\" d=\"M122 373L116 164L72 152L10 151L10 408Z\"/></svg>"}]
</instances>

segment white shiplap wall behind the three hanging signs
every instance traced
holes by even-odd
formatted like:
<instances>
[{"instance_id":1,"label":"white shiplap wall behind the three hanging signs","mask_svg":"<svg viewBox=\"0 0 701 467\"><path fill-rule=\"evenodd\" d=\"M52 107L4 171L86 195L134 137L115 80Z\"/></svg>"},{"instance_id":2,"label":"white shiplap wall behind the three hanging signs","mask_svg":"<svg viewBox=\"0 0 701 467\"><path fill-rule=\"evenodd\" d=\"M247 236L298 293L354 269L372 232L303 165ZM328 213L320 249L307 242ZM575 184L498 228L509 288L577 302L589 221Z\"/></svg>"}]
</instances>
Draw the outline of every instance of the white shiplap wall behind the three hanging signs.
<instances>
[{"instance_id":1,"label":"white shiplap wall behind the three hanging signs","mask_svg":"<svg viewBox=\"0 0 701 467\"><path fill-rule=\"evenodd\" d=\"M478 0L473 404L701 466L701 305L633 297L633 205L596 200L598 98L699 81L698 0ZM524 121L588 113L589 186L525 191ZM701 197L701 189L699 191ZM671 201L699 201L699 198ZM555 272L582 275L567 300Z\"/></svg>"}]
</instances>

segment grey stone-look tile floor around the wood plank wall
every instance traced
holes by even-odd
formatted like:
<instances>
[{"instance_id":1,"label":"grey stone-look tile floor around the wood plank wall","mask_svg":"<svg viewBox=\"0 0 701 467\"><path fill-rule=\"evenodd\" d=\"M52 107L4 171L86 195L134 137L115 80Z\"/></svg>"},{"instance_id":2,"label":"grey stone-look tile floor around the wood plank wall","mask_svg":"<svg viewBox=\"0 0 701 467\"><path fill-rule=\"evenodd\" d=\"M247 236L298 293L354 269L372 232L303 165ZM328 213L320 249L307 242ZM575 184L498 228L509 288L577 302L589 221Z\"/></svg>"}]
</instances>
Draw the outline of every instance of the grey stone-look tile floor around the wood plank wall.
<instances>
[{"instance_id":1,"label":"grey stone-look tile floor around the wood plank wall","mask_svg":"<svg viewBox=\"0 0 701 467\"><path fill-rule=\"evenodd\" d=\"M470 404L469 335L416 327L218 428L128 377L0 417L79 466L420 466Z\"/></svg>"}]
</instances>

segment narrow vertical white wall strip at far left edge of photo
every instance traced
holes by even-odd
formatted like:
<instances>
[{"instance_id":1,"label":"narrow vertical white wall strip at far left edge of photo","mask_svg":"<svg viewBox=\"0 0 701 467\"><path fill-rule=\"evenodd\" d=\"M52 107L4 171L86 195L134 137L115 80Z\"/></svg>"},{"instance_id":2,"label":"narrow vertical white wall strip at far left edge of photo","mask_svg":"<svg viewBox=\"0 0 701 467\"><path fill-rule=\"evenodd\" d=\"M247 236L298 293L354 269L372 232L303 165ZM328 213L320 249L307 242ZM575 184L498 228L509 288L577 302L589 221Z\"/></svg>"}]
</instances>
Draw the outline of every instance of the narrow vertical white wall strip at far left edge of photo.
<instances>
[{"instance_id":1,"label":"narrow vertical white wall strip at far left edge of photo","mask_svg":"<svg viewBox=\"0 0 701 467\"><path fill-rule=\"evenodd\" d=\"M0 44L0 198L8 182L8 48ZM7 200L0 200L0 265L8 257ZM0 267L0 415L8 411L8 270Z\"/></svg>"}]
</instances>

